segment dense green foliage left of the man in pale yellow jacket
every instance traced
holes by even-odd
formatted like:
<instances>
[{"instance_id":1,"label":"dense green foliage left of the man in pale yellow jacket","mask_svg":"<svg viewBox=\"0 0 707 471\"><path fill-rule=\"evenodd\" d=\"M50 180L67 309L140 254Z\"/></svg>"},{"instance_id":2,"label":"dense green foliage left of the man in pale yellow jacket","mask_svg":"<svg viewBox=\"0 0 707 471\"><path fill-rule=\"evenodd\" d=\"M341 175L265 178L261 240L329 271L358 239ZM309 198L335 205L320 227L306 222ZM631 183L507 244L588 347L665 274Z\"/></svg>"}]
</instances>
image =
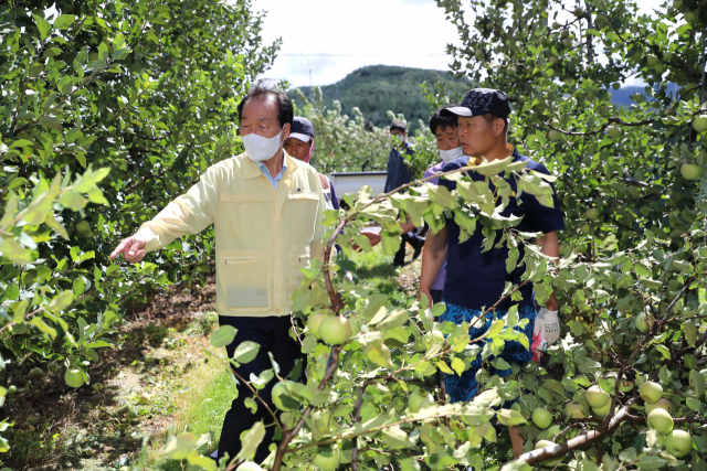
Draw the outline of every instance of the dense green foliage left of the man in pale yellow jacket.
<instances>
[{"instance_id":1,"label":"dense green foliage left of the man in pale yellow jacket","mask_svg":"<svg viewBox=\"0 0 707 471\"><path fill-rule=\"evenodd\" d=\"M0 4L2 386L48 366L88 381L127 301L212 270L211 232L159 265L107 254L239 152L238 97L278 47L262 20L249 1Z\"/></svg>"}]
</instances>

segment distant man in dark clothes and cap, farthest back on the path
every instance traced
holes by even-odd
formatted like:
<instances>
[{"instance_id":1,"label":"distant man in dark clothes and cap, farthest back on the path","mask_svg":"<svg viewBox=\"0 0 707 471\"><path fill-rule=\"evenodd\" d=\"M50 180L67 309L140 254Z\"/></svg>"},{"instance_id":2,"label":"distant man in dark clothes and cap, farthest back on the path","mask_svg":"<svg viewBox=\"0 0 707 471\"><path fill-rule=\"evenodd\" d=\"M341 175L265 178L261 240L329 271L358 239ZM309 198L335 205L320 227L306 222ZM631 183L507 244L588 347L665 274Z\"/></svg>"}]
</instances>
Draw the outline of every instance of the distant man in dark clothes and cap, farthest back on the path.
<instances>
[{"instance_id":1,"label":"distant man in dark clothes and cap, farthest back on the path","mask_svg":"<svg viewBox=\"0 0 707 471\"><path fill-rule=\"evenodd\" d=\"M412 146L408 142L408 127L404 122L394 121L390 125L390 135L395 143L388 157L388 175L386 175L386 186L383 190L386 193L412 181L410 169L408 168L408 163L405 163L405 159L401 156L401 152L405 152L408 156L414 154ZM414 260L420 255L420 251L422 251L424 239L418 235L416 229L403 234L400 248L393 257L393 265L395 267L402 267L405 264L405 244L410 244L412 248L414 248L415 251L412 257Z\"/></svg>"}]
</instances>

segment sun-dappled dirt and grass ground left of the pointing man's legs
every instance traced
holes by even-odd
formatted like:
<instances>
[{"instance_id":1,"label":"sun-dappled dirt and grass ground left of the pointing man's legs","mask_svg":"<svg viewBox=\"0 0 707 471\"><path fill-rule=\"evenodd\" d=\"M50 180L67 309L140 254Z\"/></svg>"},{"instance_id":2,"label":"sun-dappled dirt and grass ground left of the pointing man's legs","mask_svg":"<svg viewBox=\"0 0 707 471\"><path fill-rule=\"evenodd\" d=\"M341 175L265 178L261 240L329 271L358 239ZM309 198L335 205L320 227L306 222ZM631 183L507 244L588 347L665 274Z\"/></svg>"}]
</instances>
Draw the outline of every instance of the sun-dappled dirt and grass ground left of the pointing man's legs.
<instances>
[{"instance_id":1,"label":"sun-dappled dirt and grass ground left of the pointing man's legs","mask_svg":"<svg viewBox=\"0 0 707 471\"><path fill-rule=\"evenodd\" d=\"M218 321L215 285L156 295L127 315L115 349L99 351L91 385L73 389L63 365L40 365L48 374L27 379L30 366L11 370L3 435L12 445L1 465L20 470L119 469L139 452L143 436L162 433L180 377L203 361L202 346ZM31 367L36 366L35 364ZM53 366L53 367L52 367ZM61 371L60 371L61 370ZM147 393L149 404L139 404Z\"/></svg>"}]
</instances>

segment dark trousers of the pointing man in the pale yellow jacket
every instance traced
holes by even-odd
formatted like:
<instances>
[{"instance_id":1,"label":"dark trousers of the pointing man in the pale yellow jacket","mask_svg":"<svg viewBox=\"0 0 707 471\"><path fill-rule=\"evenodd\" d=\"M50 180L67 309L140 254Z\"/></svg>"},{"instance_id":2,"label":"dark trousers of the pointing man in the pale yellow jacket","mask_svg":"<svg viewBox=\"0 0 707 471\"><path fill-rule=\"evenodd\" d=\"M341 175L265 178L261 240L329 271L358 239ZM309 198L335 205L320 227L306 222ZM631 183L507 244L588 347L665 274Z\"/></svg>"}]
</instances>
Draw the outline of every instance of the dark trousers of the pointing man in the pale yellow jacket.
<instances>
[{"instance_id":1,"label":"dark trousers of the pointing man in the pale yellow jacket","mask_svg":"<svg viewBox=\"0 0 707 471\"><path fill-rule=\"evenodd\" d=\"M305 362L305 355L302 353L299 343L289 336L289 331L292 330L289 315L267 318L232 318L219 315L219 324L233 325L238 329L235 339L225 347L229 357L232 357L239 344L246 340L261 345L255 360L242 364L239 368L234 368L235 373L245 381L250 381L252 374L258 376L265 370L273 367L267 352L273 354L275 362L279 365L279 375L282 377L287 377L297 360ZM264 399L273 411L277 410L271 397L276 381L276 378L272 379L258 392L258 397ZM239 397L233 400L231 409L225 414L225 418L223 419L223 429L221 430L221 440L219 441L219 458L228 452L230 459L233 459L233 457L241 451L241 433L252 428L255 422L263 420L266 426L265 438L263 438L263 441L257 448L254 459L255 462L260 463L270 454L267 447L270 447L273 440L276 426L274 425L273 416L258 399L255 399L257 404L257 411L255 414L245 407L245 399L253 397L253 394L244 384L239 384L238 387Z\"/></svg>"}]
</instances>

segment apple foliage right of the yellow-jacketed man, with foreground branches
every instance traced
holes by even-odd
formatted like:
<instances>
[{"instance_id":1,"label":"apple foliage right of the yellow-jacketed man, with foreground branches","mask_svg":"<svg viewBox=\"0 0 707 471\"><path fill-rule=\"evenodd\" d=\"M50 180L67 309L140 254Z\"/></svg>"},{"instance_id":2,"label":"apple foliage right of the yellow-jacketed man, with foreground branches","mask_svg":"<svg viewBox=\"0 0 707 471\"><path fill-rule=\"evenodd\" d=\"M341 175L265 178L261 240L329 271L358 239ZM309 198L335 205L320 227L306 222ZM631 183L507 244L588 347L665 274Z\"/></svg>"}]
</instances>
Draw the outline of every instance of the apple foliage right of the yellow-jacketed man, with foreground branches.
<instances>
[{"instance_id":1,"label":"apple foliage right of the yellow-jacketed man, with foreground branches","mask_svg":"<svg viewBox=\"0 0 707 471\"><path fill-rule=\"evenodd\" d=\"M473 15L458 0L439 4L458 26L462 45L450 46L453 71L509 93L511 142L556 176L495 162L472 171L493 181L497 195L454 174L447 178L457 180L455 192L429 185L376 199L363 192L349 201L347 214L330 213L327 223L345 231L336 236L345 255L351 238L366 249L357 232L370 220L383 226L382 245L394 251L400 212L418 224L424 220L433 232L450 217L467 233L482 225L484 246L510 249L507 269L525 266L523 282L535 283L540 304L551 287L557 290L561 340L540 364L509 365L493 355L518 338L515 310L483 338L471 339L466 324L434 322L442 306L395 308L386 296L347 281L345 260L314 266L306 280L312 289L294 297L308 318L300 333L313 358L308 383L283 383L283 441L266 464L483 469L479 446L496 440L496 418L519 425L526 439L526 452L507 470L540 463L705 469L704 2L678 0L653 17L623 0L473 0ZM618 108L609 89L630 76L646 82L645 95ZM445 95L432 90L432 105L446 103ZM520 199L529 192L549 203L548 183L557 185L568 224L557 265L531 244L534 234L519 234L514 221L498 217L510 191L496 173L518 179ZM474 276L483 272L469 272L469 283ZM509 285L502 297L518 301L517 289ZM347 318L348 341L326 342L325 332L317 332L326 322L321 315ZM432 381L435 372L458 374L478 355L483 392L467 404L446 404ZM502 378L490 366L513 373ZM260 382L254 378L251 387ZM511 408L503 408L514 398ZM667 410L647 414L653 407ZM246 439L257 442L261 428Z\"/></svg>"}]
</instances>

